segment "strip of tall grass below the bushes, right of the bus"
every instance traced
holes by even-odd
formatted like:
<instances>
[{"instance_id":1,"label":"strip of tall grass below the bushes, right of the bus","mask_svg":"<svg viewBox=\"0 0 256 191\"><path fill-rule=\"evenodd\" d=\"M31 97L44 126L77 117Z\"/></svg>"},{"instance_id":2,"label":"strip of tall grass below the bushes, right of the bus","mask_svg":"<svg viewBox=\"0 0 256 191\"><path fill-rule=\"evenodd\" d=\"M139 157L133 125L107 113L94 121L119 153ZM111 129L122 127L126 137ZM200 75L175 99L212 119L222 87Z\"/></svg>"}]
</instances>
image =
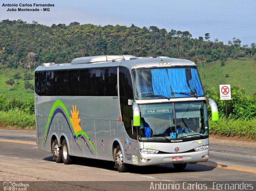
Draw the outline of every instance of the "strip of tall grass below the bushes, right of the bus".
<instances>
[{"instance_id":1,"label":"strip of tall grass below the bushes, right of the bus","mask_svg":"<svg viewBox=\"0 0 256 191\"><path fill-rule=\"evenodd\" d=\"M222 136L238 136L240 138L252 138L256 140L256 119L241 120L229 119L220 117L218 121L209 120L210 134Z\"/></svg>"}]
</instances>

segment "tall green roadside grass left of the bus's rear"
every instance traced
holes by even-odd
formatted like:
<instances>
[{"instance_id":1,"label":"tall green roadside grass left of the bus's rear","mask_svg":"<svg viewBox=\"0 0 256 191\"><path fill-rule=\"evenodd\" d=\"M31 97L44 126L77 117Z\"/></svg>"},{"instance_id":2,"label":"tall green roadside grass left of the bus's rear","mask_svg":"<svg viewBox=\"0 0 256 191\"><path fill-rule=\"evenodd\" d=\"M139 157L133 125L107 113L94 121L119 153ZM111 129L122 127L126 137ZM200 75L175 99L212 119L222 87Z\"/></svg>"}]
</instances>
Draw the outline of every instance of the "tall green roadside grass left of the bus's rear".
<instances>
[{"instance_id":1,"label":"tall green roadside grass left of the bus's rear","mask_svg":"<svg viewBox=\"0 0 256 191\"><path fill-rule=\"evenodd\" d=\"M0 111L0 126L22 129L35 129L35 116L21 110Z\"/></svg>"}]
</instances>

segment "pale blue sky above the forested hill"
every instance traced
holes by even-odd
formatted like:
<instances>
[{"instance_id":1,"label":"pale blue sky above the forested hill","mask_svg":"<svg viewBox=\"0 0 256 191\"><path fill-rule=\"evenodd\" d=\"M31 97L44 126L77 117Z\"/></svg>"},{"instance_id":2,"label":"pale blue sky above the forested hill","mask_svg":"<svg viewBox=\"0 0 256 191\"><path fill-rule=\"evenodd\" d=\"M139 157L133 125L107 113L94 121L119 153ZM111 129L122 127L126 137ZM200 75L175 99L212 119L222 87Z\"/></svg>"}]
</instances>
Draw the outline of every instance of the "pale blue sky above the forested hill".
<instances>
[{"instance_id":1,"label":"pale blue sky above the forested hill","mask_svg":"<svg viewBox=\"0 0 256 191\"><path fill-rule=\"evenodd\" d=\"M0 0L0 20L22 19L28 23L94 24L188 31L192 38L210 33L210 40L227 44L233 38L241 45L256 43L255 0ZM7 11L19 4L54 4L49 12ZM5 7L3 4L18 4ZM21 7L36 8L36 7ZM40 8L40 7L39 7ZM41 9L41 8L40 8Z\"/></svg>"}]
</instances>

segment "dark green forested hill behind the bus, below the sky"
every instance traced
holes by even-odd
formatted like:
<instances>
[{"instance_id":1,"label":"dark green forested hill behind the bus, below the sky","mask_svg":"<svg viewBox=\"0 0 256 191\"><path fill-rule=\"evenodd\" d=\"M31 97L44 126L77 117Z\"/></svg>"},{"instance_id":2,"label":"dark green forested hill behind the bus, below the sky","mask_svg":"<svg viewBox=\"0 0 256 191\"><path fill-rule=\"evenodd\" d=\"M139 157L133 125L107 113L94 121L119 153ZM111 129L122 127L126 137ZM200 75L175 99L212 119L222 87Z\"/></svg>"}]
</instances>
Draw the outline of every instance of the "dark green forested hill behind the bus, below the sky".
<instances>
[{"instance_id":1,"label":"dark green forested hill behind the bus, below the sky","mask_svg":"<svg viewBox=\"0 0 256 191\"><path fill-rule=\"evenodd\" d=\"M32 24L22 20L0 21L0 64L14 68L106 54L164 55L195 63L219 60L224 65L228 58L254 58L255 52L255 43L241 47L241 41L236 38L224 45L218 39L211 41L209 33L192 38L188 31L168 32L156 26L95 26L72 22L68 26L48 27L35 21Z\"/></svg>"}]
</instances>

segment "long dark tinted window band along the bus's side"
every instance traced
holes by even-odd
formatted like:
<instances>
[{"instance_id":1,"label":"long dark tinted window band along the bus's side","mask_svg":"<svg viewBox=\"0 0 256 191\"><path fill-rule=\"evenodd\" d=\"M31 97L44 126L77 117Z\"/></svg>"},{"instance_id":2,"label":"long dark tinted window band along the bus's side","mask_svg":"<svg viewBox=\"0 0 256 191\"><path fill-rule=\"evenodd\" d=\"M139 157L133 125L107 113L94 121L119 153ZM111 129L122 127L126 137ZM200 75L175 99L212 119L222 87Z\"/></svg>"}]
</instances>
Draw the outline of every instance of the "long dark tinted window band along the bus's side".
<instances>
[{"instance_id":1,"label":"long dark tinted window band along the bus's side","mask_svg":"<svg viewBox=\"0 0 256 191\"><path fill-rule=\"evenodd\" d=\"M118 96L117 68L37 72L35 91L41 96Z\"/></svg>"}]
</instances>

